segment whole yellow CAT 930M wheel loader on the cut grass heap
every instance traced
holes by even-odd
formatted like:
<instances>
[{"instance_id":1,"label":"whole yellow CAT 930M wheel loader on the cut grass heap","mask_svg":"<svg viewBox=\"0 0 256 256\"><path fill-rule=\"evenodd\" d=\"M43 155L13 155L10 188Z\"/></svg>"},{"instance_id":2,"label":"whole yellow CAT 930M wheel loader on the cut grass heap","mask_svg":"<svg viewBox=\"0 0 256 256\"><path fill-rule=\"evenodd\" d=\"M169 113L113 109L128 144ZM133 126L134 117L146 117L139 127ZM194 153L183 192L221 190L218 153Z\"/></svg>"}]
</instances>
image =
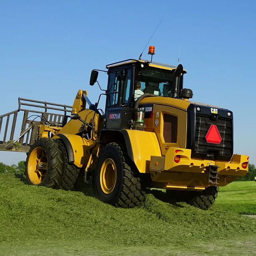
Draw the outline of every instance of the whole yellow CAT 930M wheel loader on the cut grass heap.
<instances>
[{"instance_id":1,"label":"whole yellow CAT 930M wheel loader on the cut grass heap","mask_svg":"<svg viewBox=\"0 0 256 256\"><path fill-rule=\"evenodd\" d=\"M181 64L115 62L92 70L91 86L99 71L108 83L96 104L78 90L73 106L19 99L16 112L0 116L0 132L6 120L0 150L28 152L29 184L72 190L82 173L114 206L139 206L146 188L160 188L207 210L220 186L247 174L249 156L233 153L232 111L191 101ZM101 96L104 111L98 108ZM31 111L38 120L28 118ZM24 112L22 129L13 140L18 112Z\"/></svg>"}]
</instances>

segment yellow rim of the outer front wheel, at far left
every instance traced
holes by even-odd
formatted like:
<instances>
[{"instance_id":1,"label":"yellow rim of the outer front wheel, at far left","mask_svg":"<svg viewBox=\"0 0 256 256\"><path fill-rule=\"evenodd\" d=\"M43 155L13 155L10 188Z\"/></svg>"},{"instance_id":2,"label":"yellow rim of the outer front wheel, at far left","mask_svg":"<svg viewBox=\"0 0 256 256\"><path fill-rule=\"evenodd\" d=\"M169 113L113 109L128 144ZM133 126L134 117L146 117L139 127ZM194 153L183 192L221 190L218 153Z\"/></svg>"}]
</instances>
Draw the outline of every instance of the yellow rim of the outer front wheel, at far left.
<instances>
[{"instance_id":1,"label":"yellow rim of the outer front wheel, at far left","mask_svg":"<svg viewBox=\"0 0 256 256\"><path fill-rule=\"evenodd\" d=\"M48 157L42 147L34 148L28 158L28 177L34 185L39 185L48 169Z\"/></svg>"}]
</instances>

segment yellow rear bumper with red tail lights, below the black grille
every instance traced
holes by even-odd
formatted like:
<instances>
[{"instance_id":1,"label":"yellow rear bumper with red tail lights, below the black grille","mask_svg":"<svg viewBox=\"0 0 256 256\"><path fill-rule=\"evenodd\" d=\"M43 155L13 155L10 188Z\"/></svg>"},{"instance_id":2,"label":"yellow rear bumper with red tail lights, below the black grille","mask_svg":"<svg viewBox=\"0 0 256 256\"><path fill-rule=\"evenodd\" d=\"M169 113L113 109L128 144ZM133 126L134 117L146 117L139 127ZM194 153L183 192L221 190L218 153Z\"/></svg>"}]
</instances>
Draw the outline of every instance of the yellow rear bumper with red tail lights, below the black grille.
<instances>
[{"instance_id":1,"label":"yellow rear bumper with red tail lights, below the black grille","mask_svg":"<svg viewBox=\"0 0 256 256\"><path fill-rule=\"evenodd\" d=\"M174 162L174 156L180 156L180 162ZM209 165L218 166L218 177L220 186L232 182L239 176L248 173L249 156L234 154L230 162L212 160L200 160L191 158L191 150L184 148L170 148L166 156L151 156L150 173L153 181L164 182L182 186L207 187Z\"/></svg>"}]
</instances>

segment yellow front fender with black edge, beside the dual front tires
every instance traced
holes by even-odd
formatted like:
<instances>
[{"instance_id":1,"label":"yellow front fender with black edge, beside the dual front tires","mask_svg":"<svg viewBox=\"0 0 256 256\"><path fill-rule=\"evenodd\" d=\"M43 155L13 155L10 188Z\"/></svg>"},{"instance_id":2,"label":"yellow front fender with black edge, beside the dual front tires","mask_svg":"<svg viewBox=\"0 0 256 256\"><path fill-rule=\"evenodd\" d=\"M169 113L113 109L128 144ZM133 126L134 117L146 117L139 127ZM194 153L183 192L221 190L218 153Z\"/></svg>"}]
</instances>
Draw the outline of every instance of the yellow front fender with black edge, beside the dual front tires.
<instances>
[{"instance_id":1,"label":"yellow front fender with black edge, beside the dual front tires","mask_svg":"<svg viewBox=\"0 0 256 256\"><path fill-rule=\"evenodd\" d=\"M90 149L94 147L93 140L86 140L74 134L57 134L52 139L61 139L68 153L68 162L78 168L86 167L90 158Z\"/></svg>"}]
</instances>

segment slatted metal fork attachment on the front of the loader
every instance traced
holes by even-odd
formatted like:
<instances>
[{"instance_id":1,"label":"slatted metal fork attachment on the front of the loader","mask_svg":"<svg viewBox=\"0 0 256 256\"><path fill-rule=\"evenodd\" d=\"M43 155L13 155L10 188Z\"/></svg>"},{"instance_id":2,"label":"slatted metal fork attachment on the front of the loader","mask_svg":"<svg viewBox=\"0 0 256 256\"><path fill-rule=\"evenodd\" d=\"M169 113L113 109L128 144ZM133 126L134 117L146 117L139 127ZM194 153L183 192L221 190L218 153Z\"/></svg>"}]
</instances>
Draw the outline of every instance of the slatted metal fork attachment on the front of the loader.
<instances>
[{"instance_id":1,"label":"slatted metal fork attachment on the front of the loader","mask_svg":"<svg viewBox=\"0 0 256 256\"><path fill-rule=\"evenodd\" d=\"M72 106L18 98L18 109L0 116L0 151L28 152L39 138L40 125L60 129L68 122L71 111ZM20 132L16 132L18 122Z\"/></svg>"}]
</instances>

